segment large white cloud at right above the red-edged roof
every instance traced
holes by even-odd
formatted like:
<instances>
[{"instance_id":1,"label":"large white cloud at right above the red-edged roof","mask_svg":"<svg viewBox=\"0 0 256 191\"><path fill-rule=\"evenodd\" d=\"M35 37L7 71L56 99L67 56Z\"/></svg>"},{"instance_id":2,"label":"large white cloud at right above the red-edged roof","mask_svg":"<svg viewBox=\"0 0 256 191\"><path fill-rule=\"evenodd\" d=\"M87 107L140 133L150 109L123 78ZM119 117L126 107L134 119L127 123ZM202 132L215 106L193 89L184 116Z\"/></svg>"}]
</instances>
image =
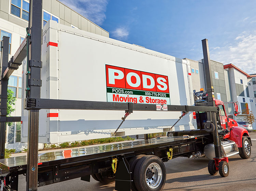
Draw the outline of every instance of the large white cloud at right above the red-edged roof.
<instances>
[{"instance_id":1,"label":"large white cloud at right above the red-edged roof","mask_svg":"<svg viewBox=\"0 0 256 191\"><path fill-rule=\"evenodd\" d=\"M211 59L223 64L232 63L248 74L256 73L256 31L239 35L233 44L214 50Z\"/></svg>"}]
</instances>

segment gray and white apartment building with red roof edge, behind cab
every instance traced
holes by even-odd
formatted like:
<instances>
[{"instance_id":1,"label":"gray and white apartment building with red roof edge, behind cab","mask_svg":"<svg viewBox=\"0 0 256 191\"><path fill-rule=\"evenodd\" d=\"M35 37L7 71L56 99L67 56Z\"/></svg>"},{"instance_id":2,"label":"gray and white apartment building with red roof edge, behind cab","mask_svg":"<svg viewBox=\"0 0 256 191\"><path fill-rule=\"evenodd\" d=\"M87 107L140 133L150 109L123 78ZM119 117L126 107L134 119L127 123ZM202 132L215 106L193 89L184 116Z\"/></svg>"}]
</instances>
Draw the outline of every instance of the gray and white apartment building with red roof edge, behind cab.
<instances>
[{"instance_id":1,"label":"gray and white apartment building with red roof edge, behind cab","mask_svg":"<svg viewBox=\"0 0 256 191\"><path fill-rule=\"evenodd\" d=\"M185 58L190 62L193 90L207 89L205 82L204 62ZM233 64L224 65L210 60L214 96L223 102L238 102L241 113L230 116L237 121L245 121L248 110L256 117L256 74L247 74ZM226 104L227 114L233 114L233 104ZM256 129L256 120L253 123Z\"/></svg>"}]
</instances>

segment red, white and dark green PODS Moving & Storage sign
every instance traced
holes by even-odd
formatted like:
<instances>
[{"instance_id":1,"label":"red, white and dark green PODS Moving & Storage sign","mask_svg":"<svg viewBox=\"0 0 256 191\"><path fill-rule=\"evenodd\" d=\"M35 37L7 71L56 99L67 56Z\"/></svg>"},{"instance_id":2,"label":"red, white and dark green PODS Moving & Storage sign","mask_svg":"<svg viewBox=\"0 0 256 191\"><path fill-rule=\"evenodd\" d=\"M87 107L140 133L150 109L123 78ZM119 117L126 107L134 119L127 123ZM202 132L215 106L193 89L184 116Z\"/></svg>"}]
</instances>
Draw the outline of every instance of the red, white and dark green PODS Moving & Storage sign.
<instances>
[{"instance_id":1,"label":"red, white and dark green PODS Moving & Storage sign","mask_svg":"<svg viewBox=\"0 0 256 191\"><path fill-rule=\"evenodd\" d=\"M170 104L165 75L106 65L106 86L110 102Z\"/></svg>"}]
</instances>

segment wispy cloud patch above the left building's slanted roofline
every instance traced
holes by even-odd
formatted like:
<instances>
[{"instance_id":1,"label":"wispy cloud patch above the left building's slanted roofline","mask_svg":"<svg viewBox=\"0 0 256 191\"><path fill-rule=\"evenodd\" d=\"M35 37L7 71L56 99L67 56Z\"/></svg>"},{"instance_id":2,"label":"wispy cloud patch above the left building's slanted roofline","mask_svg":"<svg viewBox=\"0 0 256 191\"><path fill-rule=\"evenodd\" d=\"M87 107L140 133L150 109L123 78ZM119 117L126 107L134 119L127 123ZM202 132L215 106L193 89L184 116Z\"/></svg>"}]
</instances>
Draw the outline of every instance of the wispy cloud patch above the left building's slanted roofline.
<instances>
[{"instance_id":1,"label":"wispy cloud patch above the left building's slanted roofline","mask_svg":"<svg viewBox=\"0 0 256 191\"><path fill-rule=\"evenodd\" d=\"M108 0L60 0L72 10L83 15L85 18L101 25L106 19L106 6Z\"/></svg>"}]
</instances>

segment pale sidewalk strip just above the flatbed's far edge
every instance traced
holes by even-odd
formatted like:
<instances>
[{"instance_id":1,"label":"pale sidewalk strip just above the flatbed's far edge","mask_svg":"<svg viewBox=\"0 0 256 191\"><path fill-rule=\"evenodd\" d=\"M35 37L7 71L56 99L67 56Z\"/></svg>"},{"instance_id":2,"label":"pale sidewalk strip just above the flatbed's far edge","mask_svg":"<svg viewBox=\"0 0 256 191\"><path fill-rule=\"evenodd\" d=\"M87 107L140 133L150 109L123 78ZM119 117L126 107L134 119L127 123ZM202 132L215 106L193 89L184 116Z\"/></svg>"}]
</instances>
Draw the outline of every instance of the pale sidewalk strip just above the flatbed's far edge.
<instances>
[{"instance_id":1,"label":"pale sidewalk strip just above the flatbed's far edge","mask_svg":"<svg viewBox=\"0 0 256 191\"><path fill-rule=\"evenodd\" d=\"M140 140L143 140L143 139L135 139L133 141L140 141ZM126 143L126 142L130 142L130 141L119 141L119 142L112 142L112 143L93 144L93 145L88 145L88 146L79 146L79 147L69 147L69 148L63 148L63 149L44 150L44 151L38 151L38 154L50 153L50 152L55 152L55 151L65 151L65 150L70 150L70 149L87 148L87 147L100 146L100 145L109 145L109 144L115 144L115 143ZM25 155L27 155L27 152L13 153L13 154L11 154L11 157L25 156Z\"/></svg>"}]
</instances>

